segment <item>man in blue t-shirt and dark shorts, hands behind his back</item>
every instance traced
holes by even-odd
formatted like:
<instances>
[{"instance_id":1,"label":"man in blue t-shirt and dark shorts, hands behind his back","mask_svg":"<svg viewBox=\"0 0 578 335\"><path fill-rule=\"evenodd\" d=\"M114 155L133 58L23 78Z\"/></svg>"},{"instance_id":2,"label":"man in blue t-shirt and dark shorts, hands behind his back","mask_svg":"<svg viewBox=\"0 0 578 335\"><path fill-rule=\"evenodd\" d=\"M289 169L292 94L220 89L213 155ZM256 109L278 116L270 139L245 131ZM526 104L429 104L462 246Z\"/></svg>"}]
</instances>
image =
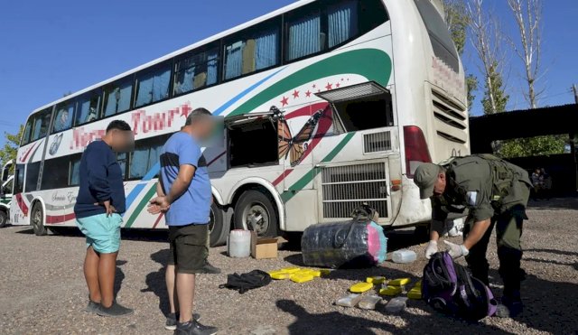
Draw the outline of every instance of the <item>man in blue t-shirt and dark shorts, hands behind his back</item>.
<instances>
[{"instance_id":1,"label":"man in blue t-shirt and dark shorts, hands behind his back","mask_svg":"<svg viewBox=\"0 0 578 335\"><path fill-rule=\"evenodd\" d=\"M215 122L207 109L195 109L187 116L181 131L164 144L157 184L159 196L151 200L149 207L153 214L166 212L169 226L171 252L166 285L171 315L165 328L175 330L175 334L211 335L217 332L217 328L203 326L192 318L195 275L220 273L207 261L212 193L207 162L199 144L210 137L214 127Z\"/></svg>"}]
</instances>

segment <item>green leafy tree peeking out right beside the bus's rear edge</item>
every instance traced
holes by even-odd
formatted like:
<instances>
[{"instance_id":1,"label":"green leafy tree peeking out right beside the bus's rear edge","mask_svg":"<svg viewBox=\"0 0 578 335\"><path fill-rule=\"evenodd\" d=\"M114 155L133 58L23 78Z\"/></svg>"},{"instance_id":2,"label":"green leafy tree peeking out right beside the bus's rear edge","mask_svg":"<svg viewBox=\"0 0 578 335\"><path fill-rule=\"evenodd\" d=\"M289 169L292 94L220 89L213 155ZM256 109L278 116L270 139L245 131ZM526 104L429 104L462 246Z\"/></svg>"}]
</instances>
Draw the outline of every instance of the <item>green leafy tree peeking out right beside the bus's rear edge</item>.
<instances>
[{"instance_id":1,"label":"green leafy tree peeking out right beside the bus's rear edge","mask_svg":"<svg viewBox=\"0 0 578 335\"><path fill-rule=\"evenodd\" d=\"M445 22L452 34L453 44L460 55L466 46L468 38L468 27L471 24L471 17L463 0L443 0L443 10ZM466 76L466 88L468 91L468 107L473 105L476 98L473 94L478 89L478 79L469 74Z\"/></svg>"}]
</instances>

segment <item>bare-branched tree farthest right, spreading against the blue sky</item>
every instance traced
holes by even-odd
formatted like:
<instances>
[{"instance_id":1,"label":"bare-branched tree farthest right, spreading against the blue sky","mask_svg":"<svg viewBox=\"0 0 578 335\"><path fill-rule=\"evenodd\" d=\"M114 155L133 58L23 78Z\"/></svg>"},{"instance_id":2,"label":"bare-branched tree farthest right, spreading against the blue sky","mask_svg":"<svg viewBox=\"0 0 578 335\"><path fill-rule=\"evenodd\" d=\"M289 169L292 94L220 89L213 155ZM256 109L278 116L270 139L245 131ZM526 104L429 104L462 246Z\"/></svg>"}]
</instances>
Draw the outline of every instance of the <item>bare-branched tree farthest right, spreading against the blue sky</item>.
<instances>
[{"instance_id":1,"label":"bare-branched tree farthest right, spreading against the blue sky","mask_svg":"<svg viewBox=\"0 0 578 335\"><path fill-rule=\"evenodd\" d=\"M541 0L508 0L508 5L516 19L519 41L510 40L517 57L522 60L525 70L527 92L524 97L530 108L537 107L538 98L544 89L536 90L536 80L542 73L542 1Z\"/></svg>"}]
</instances>

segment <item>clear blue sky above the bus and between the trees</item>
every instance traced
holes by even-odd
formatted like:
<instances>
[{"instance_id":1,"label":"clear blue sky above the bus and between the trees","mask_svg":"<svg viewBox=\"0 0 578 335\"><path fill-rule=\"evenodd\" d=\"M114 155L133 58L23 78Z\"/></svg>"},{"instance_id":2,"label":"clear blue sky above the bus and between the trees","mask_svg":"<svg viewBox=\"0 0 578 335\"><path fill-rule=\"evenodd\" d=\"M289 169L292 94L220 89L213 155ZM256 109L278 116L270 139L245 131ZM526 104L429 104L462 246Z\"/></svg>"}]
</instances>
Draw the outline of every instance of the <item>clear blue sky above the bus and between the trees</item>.
<instances>
[{"instance_id":1,"label":"clear blue sky above the bus and between the trees","mask_svg":"<svg viewBox=\"0 0 578 335\"><path fill-rule=\"evenodd\" d=\"M405 0L407 1L407 0ZM0 3L0 134L14 133L33 109L220 33L292 0L21 0ZM495 5L516 33L505 0ZM545 88L540 106L573 103L578 84L577 0L544 0ZM526 108L519 60L509 56L508 109ZM471 48L465 67L477 74ZM472 107L480 115L481 92ZM0 135L0 145L4 136Z\"/></svg>"}]
</instances>

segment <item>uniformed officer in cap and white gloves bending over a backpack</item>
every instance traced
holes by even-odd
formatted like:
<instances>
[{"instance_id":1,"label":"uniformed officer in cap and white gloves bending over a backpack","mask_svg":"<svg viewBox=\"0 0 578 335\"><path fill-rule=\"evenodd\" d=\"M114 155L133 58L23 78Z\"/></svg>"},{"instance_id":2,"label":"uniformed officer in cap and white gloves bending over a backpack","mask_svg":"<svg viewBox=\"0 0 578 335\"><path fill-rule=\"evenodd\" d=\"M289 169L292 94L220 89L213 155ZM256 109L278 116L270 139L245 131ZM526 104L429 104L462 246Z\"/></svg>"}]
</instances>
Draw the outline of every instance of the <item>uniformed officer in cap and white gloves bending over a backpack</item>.
<instances>
[{"instance_id":1,"label":"uniformed officer in cap and white gloves bending over a backpack","mask_svg":"<svg viewBox=\"0 0 578 335\"><path fill-rule=\"evenodd\" d=\"M504 282L499 316L522 312L520 260L522 222L526 217L531 182L522 168L490 154L453 159L445 165L424 163L415 171L415 184L422 199L432 200L429 258L437 252L437 241L451 212L469 209L463 230L463 244L444 241L454 258L465 256L471 274L489 284L486 259L489 237L496 227L499 274ZM499 310L500 311L500 310Z\"/></svg>"}]
</instances>

